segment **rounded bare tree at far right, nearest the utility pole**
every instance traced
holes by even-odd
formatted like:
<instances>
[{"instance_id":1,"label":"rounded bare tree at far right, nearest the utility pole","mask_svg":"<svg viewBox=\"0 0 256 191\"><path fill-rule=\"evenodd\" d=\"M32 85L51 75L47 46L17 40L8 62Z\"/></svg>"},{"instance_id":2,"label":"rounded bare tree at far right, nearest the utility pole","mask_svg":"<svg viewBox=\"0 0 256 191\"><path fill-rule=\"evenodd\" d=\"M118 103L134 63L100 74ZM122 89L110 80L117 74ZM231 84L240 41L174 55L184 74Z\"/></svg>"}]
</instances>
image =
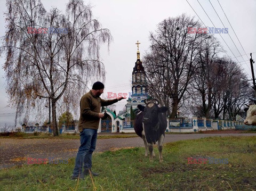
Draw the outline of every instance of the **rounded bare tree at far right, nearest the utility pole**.
<instances>
[{"instance_id":1,"label":"rounded bare tree at far right, nearest the utility pole","mask_svg":"<svg viewBox=\"0 0 256 191\"><path fill-rule=\"evenodd\" d=\"M234 119L243 105L250 100L249 83L238 64L226 57L218 59L214 70L218 74L212 98L215 119L221 113L222 119Z\"/></svg>"}]
</instances>

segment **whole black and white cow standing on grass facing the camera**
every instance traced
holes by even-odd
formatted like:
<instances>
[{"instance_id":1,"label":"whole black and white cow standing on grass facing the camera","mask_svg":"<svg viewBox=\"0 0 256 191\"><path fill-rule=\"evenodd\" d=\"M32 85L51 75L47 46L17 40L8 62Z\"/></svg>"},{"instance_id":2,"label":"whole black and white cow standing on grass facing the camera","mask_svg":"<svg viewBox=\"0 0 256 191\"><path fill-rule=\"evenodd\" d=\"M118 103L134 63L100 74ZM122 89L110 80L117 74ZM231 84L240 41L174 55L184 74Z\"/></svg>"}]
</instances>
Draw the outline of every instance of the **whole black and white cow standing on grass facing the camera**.
<instances>
[{"instance_id":1,"label":"whole black and white cow standing on grass facing the camera","mask_svg":"<svg viewBox=\"0 0 256 191\"><path fill-rule=\"evenodd\" d=\"M146 106L138 105L140 112L136 115L134 121L134 130L140 136L145 144L145 156L150 154L150 161L153 161L153 144L158 142L159 162L163 162L162 149L164 142L164 132L167 127L165 112L167 107L158 107L156 103L149 102Z\"/></svg>"}]
</instances>

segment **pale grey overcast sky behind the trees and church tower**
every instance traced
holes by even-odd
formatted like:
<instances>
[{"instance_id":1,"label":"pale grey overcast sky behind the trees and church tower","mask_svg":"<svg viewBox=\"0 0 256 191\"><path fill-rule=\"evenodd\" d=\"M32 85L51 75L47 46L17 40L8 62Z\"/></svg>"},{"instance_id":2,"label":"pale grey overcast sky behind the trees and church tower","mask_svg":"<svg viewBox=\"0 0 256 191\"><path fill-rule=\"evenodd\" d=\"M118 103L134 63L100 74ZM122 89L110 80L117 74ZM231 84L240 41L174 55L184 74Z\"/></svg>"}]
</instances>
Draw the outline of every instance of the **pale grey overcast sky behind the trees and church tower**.
<instances>
[{"instance_id":1,"label":"pale grey overcast sky behind the trees and church tower","mask_svg":"<svg viewBox=\"0 0 256 191\"><path fill-rule=\"evenodd\" d=\"M207 18L206 13L203 11L201 3L205 12L209 15L213 24ZM236 35L241 42L239 44L234 31L231 29L225 14L223 13L218 0L188 0L189 4L193 7L198 16L202 19L206 27L224 28L214 9L219 14L225 27L228 28L228 33L234 40L236 46L231 41L228 34L222 34L222 38L226 41L227 45L234 53L231 53L228 46L223 42L220 35L216 34L215 37L219 39L223 48L227 51L227 55L234 61L241 62L241 67L247 74L247 78L251 79L250 70L250 53L253 53L253 59L256 60L256 1L255 0L219 0L223 11L227 15ZM42 0L42 3L47 11L51 7L57 7L63 13L68 0ZM149 31L155 31L157 24L169 17L176 17L182 13L189 16L198 16L190 7L186 0L170 1L170 0L95 0L84 1L86 4L90 3L93 6L92 12L95 19L98 19L103 28L108 28L111 35L114 37L114 42L110 45L110 51L107 51L106 46L101 48L101 58L105 64L106 81L105 93L101 97L107 97L107 92L113 93L127 93L131 92L131 75L132 70L137 60L137 45L135 43L139 40L140 53L143 64L143 54L149 50ZM3 13L6 11L5 1L0 0L0 36L4 36L5 22ZM245 55L247 54L247 56ZM243 55L243 56L241 56ZM237 57L237 58L234 58ZM246 62L244 62L246 61ZM5 93L5 77L3 70L4 58L0 59L0 127L5 123L9 125L14 124L15 110L7 107L8 98ZM91 87L89 85L89 87ZM79 102L79 100L78 100ZM116 110L122 110L126 100L116 104ZM78 116L75 116L78 119Z\"/></svg>"}]
</instances>

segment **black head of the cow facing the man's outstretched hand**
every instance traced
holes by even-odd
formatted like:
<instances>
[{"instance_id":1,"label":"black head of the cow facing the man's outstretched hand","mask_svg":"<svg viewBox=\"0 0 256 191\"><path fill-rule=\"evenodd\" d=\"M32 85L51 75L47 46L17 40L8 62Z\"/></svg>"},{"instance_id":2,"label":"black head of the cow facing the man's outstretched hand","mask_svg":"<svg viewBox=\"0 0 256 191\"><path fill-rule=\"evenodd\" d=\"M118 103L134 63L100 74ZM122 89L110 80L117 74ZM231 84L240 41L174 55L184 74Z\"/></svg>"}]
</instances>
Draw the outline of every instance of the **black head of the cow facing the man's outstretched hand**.
<instances>
[{"instance_id":1,"label":"black head of the cow facing the man's outstretched hand","mask_svg":"<svg viewBox=\"0 0 256 191\"><path fill-rule=\"evenodd\" d=\"M137 107L144 112L143 123L153 125L158 123L158 113L164 113L168 110L167 107L158 107L158 104L153 102L147 103L146 106L138 105Z\"/></svg>"}]
</instances>

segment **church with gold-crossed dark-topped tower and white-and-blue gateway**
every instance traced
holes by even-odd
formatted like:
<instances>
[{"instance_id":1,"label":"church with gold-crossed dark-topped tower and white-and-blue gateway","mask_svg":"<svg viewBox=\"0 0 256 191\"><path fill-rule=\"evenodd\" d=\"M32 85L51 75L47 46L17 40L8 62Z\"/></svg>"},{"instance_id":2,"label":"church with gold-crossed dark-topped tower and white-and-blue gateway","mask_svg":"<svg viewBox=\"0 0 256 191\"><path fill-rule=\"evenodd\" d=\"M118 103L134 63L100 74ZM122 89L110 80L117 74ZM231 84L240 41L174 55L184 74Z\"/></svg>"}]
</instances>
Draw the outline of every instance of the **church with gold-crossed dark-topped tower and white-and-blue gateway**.
<instances>
[{"instance_id":1,"label":"church with gold-crossed dark-topped tower and white-and-blue gateway","mask_svg":"<svg viewBox=\"0 0 256 191\"><path fill-rule=\"evenodd\" d=\"M145 99L148 98L146 72L140 60L139 41L135 43L138 47L137 61L132 71L132 94L127 99L126 110L116 113L109 109L103 109L107 118L100 120L98 132L135 132L133 129L133 120L131 120L131 108L137 109L137 105L146 105Z\"/></svg>"}]
</instances>

